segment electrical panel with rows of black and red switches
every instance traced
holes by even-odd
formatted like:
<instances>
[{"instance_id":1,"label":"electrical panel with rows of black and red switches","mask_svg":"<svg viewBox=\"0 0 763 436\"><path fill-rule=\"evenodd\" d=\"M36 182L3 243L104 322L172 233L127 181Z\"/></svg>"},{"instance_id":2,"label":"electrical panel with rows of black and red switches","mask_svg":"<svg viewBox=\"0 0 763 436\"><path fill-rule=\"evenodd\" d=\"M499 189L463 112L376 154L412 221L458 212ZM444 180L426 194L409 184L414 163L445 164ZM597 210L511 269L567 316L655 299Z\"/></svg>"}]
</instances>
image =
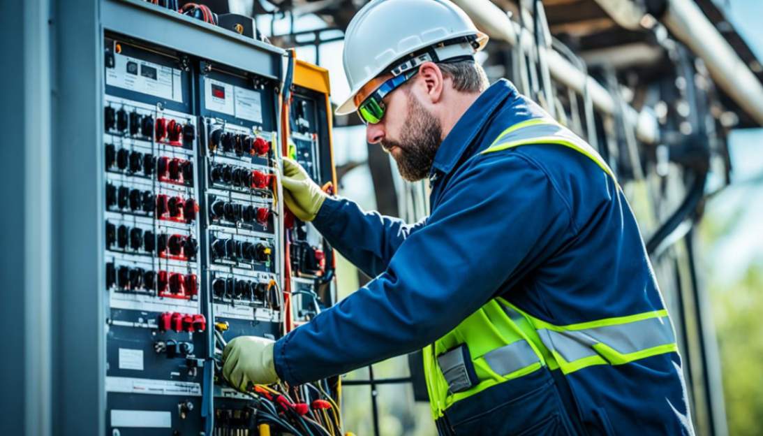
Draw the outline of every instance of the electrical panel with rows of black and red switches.
<instances>
[{"instance_id":1,"label":"electrical panel with rows of black and red switches","mask_svg":"<svg viewBox=\"0 0 763 436\"><path fill-rule=\"evenodd\" d=\"M222 379L224 344L276 340L336 301L333 251L280 180L288 153L336 186L328 89L266 44L276 76L171 41L103 43L106 433L250 434L259 402Z\"/></svg>"}]
</instances>

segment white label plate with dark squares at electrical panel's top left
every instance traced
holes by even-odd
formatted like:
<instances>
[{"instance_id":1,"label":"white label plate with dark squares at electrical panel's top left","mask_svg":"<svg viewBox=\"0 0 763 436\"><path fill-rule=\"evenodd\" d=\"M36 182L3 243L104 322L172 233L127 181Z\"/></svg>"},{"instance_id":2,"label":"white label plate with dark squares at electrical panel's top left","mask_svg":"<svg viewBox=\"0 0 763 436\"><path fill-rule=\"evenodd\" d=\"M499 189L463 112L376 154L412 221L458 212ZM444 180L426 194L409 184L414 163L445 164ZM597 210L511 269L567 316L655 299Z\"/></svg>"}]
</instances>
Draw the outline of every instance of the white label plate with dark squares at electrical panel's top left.
<instances>
[{"instance_id":1,"label":"white label plate with dark squares at electrical panel's top left","mask_svg":"<svg viewBox=\"0 0 763 436\"><path fill-rule=\"evenodd\" d=\"M106 69L106 84L160 99L183 101L179 69L119 53L114 54L114 68Z\"/></svg>"}]
</instances>

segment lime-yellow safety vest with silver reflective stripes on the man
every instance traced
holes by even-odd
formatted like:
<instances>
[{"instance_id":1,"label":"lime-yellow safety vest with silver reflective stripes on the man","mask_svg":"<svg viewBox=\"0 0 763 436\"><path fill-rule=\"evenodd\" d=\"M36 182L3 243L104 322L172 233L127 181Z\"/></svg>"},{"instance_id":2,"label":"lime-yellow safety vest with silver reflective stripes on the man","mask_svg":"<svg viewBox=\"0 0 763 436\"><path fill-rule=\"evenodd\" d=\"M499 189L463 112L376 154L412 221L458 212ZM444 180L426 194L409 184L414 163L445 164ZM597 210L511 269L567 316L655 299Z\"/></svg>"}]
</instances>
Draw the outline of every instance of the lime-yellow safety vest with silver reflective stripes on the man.
<instances>
[{"instance_id":1,"label":"lime-yellow safety vest with silver reflective stripes on the man","mask_svg":"<svg viewBox=\"0 0 763 436\"><path fill-rule=\"evenodd\" d=\"M530 144L558 144L583 153L617 183L593 147L550 118L514 124L481 154ZM665 309L552 325L497 297L425 347L423 363L436 420L454 403L542 367L567 375L593 365L620 365L673 351L678 345Z\"/></svg>"}]
</instances>

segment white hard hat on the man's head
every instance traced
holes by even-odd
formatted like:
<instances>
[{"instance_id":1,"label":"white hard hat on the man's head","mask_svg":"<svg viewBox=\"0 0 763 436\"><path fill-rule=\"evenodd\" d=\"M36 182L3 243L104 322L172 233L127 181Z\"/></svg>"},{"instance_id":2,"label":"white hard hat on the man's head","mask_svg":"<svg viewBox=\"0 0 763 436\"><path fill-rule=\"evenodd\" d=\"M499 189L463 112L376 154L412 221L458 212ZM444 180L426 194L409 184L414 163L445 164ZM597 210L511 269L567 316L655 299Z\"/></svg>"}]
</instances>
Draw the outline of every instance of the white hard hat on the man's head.
<instances>
[{"instance_id":1,"label":"white hard hat on the man's head","mask_svg":"<svg viewBox=\"0 0 763 436\"><path fill-rule=\"evenodd\" d=\"M425 60L471 56L487 43L488 35L449 0L372 0L347 27L343 64L350 93L336 115L355 111L360 89L390 66L403 63L391 71L398 76Z\"/></svg>"}]
</instances>

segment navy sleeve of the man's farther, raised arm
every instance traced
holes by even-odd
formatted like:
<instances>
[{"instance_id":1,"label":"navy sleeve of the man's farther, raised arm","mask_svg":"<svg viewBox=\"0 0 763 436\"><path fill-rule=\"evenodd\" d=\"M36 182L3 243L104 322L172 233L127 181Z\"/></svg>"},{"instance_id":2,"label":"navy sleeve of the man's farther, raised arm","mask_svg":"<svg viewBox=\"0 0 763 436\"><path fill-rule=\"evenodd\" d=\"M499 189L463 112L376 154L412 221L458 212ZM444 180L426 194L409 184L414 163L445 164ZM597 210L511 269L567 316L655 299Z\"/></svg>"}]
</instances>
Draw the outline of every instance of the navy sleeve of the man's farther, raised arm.
<instances>
[{"instance_id":1,"label":"navy sleeve of the man's farther, raised arm","mask_svg":"<svg viewBox=\"0 0 763 436\"><path fill-rule=\"evenodd\" d=\"M331 247L369 277L387 269L389 260L406 237L421 228L424 220L406 224L399 218L364 212L348 199L326 199L313 225Z\"/></svg>"}]
</instances>

